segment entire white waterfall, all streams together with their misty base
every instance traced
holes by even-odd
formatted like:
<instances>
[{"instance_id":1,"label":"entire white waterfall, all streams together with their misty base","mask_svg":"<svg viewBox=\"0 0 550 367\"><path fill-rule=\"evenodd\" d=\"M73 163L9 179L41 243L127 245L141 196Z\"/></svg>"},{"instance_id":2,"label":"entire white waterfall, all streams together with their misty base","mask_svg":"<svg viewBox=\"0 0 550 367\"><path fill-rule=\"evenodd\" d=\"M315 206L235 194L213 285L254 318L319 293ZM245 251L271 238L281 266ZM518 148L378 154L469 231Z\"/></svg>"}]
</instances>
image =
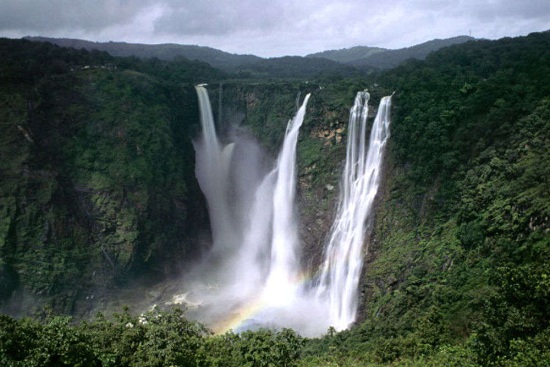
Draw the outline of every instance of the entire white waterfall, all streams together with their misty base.
<instances>
[{"instance_id":1,"label":"entire white waterfall, all streams together with their misty base","mask_svg":"<svg viewBox=\"0 0 550 367\"><path fill-rule=\"evenodd\" d=\"M213 243L204 262L189 272L179 299L200 305L197 317L218 331L292 327L313 336L329 326L348 327L355 319L365 223L388 138L390 97L380 104L367 154L369 96L357 95L337 219L315 282L300 266L295 213L296 145L310 95L289 121L276 162L269 163L246 132L216 134L208 92L196 89L203 129L194 142L196 175L208 203ZM310 280L309 287L304 280Z\"/></svg>"}]
</instances>

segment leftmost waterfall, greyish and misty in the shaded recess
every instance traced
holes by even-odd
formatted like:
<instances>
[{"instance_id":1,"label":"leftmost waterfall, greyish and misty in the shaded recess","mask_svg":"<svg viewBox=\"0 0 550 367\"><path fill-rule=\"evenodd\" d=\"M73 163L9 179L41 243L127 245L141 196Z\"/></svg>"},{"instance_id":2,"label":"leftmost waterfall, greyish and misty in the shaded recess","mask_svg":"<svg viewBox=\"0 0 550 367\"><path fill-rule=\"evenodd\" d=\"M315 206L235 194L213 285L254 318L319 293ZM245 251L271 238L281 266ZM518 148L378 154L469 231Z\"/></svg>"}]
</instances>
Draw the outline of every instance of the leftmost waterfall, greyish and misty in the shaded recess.
<instances>
[{"instance_id":1,"label":"leftmost waterfall, greyish and misty in the shaded recess","mask_svg":"<svg viewBox=\"0 0 550 367\"><path fill-rule=\"evenodd\" d=\"M196 176L208 204L213 240L208 261L195 269L199 273L196 277L201 281L212 278L216 287L223 280L222 297L230 298L225 303L238 304L248 292L257 292L262 272L253 254L265 252L268 242L260 241L263 238L257 231L254 235L254 230L265 228L260 222L270 223L271 219L251 211L262 205L253 204L257 202L254 193L269 171L263 167L265 157L258 144L247 135L234 132L226 137L225 144L220 142L208 92L203 86L195 88L202 125L202 136L194 141ZM230 294L235 287L240 288L242 297Z\"/></svg>"}]
</instances>

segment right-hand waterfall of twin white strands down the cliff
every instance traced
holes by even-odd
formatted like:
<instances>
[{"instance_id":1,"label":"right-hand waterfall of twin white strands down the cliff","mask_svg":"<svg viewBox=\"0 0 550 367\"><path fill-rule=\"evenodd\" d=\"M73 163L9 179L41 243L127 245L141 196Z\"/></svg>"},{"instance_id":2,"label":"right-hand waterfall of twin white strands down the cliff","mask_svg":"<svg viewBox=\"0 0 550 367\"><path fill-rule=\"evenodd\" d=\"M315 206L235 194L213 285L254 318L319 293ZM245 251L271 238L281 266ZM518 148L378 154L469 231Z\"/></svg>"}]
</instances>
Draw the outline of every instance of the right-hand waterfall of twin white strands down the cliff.
<instances>
[{"instance_id":1,"label":"right-hand waterfall of twin white strands down the cliff","mask_svg":"<svg viewBox=\"0 0 550 367\"><path fill-rule=\"evenodd\" d=\"M391 96L380 101L366 151L369 98L366 91L357 93L350 111L340 200L317 289L318 296L328 302L331 325L337 330L355 321L365 226L378 192L382 154L389 137Z\"/></svg>"}]
</instances>

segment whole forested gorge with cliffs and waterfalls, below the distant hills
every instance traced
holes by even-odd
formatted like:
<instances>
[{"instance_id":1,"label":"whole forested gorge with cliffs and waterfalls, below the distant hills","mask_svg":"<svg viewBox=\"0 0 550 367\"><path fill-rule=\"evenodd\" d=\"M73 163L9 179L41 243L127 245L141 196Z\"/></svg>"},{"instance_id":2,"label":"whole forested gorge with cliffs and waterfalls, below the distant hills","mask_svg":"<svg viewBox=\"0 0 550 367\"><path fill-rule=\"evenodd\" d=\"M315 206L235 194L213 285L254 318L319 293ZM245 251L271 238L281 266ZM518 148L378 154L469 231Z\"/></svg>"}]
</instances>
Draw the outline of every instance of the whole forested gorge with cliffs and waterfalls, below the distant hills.
<instances>
[{"instance_id":1,"label":"whole forested gorge with cliffs and waterfalls, below the distant hills","mask_svg":"<svg viewBox=\"0 0 550 367\"><path fill-rule=\"evenodd\" d=\"M253 356L299 366L549 360L549 49L542 32L470 41L368 74L299 78L292 69L276 78L297 64L270 60L282 64L268 76L228 75L183 59L1 39L0 364L46 356L50 365L91 366L158 365L160 356L201 366L242 366ZM210 86L213 118L223 121L212 132L214 158L198 154L198 83ZM339 194L373 199L341 180L354 140L350 106L365 88L371 122L372 106L396 92L383 166L372 171L384 184L360 205L372 205L368 251L348 251L364 254L356 280L325 259L346 227ZM296 181L285 188L294 188L295 206L275 208L286 169L275 157L308 94L288 171ZM374 133L370 125L357 131ZM211 158L215 172L199 173ZM300 223L296 258L272 251L275 211ZM270 267L273 259L280 266ZM272 294L286 284L296 305L305 299L307 317L324 316L303 326L307 317L286 313L287 299L264 297L268 283ZM273 324L283 328L261 328Z\"/></svg>"}]
</instances>

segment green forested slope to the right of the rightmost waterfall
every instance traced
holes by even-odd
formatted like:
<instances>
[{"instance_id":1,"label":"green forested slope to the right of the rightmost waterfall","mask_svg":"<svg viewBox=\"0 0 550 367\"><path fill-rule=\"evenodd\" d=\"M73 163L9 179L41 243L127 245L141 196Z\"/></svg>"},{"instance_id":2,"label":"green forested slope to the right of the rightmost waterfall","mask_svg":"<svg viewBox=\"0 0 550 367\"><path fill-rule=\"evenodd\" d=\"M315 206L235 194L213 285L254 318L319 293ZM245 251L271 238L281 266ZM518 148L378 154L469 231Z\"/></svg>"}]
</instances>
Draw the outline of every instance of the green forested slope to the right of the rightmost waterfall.
<instances>
[{"instance_id":1,"label":"green forested slope to the right of the rightmost waterfall","mask_svg":"<svg viewBox=\"0 0 550 367\"><path fill-rule=\"evenodd\" d=\"M342 355L550 360L549 49L548 32L470 42L379 77L396 89L392 138L364 320L335 336Z\"/></svg>"}]
</instances>

